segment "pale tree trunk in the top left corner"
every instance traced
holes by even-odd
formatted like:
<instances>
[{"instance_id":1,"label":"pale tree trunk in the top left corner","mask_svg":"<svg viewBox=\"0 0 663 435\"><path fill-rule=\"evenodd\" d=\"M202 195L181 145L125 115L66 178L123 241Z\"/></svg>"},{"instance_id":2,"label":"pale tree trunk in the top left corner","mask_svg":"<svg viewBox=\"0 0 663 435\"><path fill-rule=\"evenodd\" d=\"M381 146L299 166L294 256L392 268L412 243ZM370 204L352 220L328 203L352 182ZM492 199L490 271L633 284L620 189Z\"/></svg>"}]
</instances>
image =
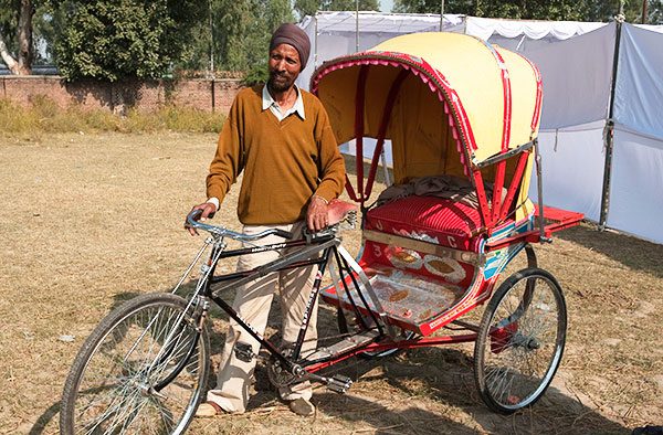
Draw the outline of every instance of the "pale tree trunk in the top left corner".
<instances>
[{"instance_id":1,"label":"pale tree trunk in the top left corner","mask_svg":"<svg viewBox=\"0 0 663 435\"><path fill-rule=\"evenodd\" d=\"M32 17L34 15L34 7L32 0L19 0L18 8L15 4L14 8L7 8L10 6L7 4L9 3L8 1L3 1L2 3L4 4L2 4L1 10L3 12L0 15L0 21L2 21L0 23L0 56L12 74L31 74L32 60L34 57L32 44ZM3 38L6 29L11 26L12 19L14 19L11 13L13 11L18 12L18 24L15 26L18 54L15 57L11 55L10 49Z\"/></svg>"}]
</instances>

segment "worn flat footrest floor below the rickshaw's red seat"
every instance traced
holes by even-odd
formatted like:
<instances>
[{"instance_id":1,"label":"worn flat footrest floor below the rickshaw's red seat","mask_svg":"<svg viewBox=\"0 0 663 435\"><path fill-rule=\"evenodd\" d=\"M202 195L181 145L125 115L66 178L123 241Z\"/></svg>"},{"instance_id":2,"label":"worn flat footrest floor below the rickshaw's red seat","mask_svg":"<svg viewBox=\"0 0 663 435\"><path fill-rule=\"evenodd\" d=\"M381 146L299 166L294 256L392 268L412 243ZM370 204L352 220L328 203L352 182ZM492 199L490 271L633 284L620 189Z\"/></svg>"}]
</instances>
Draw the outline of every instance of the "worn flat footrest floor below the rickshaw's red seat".
<instances>
[{"instance_id":1,"label":"worn flat footrest floor below the rickshaw's red seat","mask_svg":"<svg viewBox=\"0 0 663 435\"><path fill-rule=\"evenodd\" d=\"M465 289L460 286L423 278L397 268L367 268L365 272L388 320L424 336L432 330L430 322L453 307L465 293ZM348 284L349 296L343 289L338 295L336 288L330 286L322 290L323 299L348 310L352 309L351 299L359 310L368 316L369 312L364 307L357 289L351 286L351 282ZM364 290L364 287L361 289ZM364 297L368 301L368 309L376 312L368 295L365 294Z\"/></svg>"}]
</instances>

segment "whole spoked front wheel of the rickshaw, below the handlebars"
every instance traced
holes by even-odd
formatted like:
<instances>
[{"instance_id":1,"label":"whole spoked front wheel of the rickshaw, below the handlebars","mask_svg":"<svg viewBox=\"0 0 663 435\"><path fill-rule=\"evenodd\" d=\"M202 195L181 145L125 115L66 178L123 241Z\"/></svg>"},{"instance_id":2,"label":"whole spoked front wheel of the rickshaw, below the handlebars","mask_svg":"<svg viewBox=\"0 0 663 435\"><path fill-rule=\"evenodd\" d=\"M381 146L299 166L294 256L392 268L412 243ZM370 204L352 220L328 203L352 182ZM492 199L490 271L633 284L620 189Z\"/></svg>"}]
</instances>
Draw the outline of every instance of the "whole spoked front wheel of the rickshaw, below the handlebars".
<instances>
[{"instance_id":1,"label":"whole spoked front wheel of the rickshaw, below the handlebars","mask_svg":"<svg viewBox=\"0 0 663 435\"><path fill-rule=\"evenodd\" d=\"M131 299L87 338L66 380L62 434L181 434L209 369L199 309L171 294Z\"/></svg>"}]
</instances>

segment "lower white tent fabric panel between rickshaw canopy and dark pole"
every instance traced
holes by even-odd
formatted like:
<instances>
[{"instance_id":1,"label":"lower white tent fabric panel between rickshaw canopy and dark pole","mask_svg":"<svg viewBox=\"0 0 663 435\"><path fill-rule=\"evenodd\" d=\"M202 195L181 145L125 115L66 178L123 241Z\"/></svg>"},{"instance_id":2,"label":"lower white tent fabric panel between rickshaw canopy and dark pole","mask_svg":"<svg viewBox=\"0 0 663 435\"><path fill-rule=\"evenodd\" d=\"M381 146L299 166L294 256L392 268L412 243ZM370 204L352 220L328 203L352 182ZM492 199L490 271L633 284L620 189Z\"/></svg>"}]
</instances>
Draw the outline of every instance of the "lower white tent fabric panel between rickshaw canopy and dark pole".
<instances>
[{"instance_id":1,"label":"lower white tent fabric panel between rickshaw canopy and dark pole","mask_svg":"<svg viewBox=\"0 0 663 435\"><path fill-rule=\"evenodd\" d=\"M603 126L600 120L559 131L539 131L544 203L599 221L603 190ZM536 169L529 195L537 201Z\"/></svg>"}]
</instances>

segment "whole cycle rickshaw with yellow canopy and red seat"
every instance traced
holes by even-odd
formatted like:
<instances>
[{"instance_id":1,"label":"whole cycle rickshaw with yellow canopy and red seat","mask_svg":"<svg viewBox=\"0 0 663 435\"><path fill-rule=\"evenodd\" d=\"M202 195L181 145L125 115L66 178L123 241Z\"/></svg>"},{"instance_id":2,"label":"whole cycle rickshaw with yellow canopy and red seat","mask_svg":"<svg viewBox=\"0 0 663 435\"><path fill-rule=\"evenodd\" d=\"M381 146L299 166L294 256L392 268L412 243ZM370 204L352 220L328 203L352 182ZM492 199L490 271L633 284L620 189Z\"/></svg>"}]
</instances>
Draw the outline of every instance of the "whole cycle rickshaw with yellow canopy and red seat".
<instances>
[{"instance_id":1,"label":"whole cycle rickshaw with yellow canopy and red seat","mask_svg":"<svg viewBox=\"0 0 663 435\"><path fill-rule=\"evenodd\" d=\"M532 244L550 241L582 215L543 205L536 66L472 36L419 33L326 62L311 88L339 142L356 141L356 183L348 178L346 188L361 210L358 259L341 246L341 221L356 219L355 206L341 201L330 204L326 230L302 240L281 231L249 236L188 216L189 225L210 236L173 294L126 303L85 341L65 384L62 433L185 432L209 373L212 303L262 343L275 385L311 380L343 393L351 380L319 374L322 369L355 356L475 342L476 386L491 409L513 413L544 394L561 360L567 317L561 287L537 267ZM377 140L367 177L365 137ZM387 139L394 182L376 203L371 190ZM533 167L538 206L528 198ZM274 233L283 243L227 245ZM254 270L215 273L222 258L291 247L299 250ZM527 268L494 291L523 251ZM194 290L175 295L199 263ZM307 315L297 343L284 350L220 296L257 276L309 265L319 273L308 310L318 297L336 307L340 330L335 342L318 342L313 351L302 351ZM327 269L332 284L323 287ZM480 305L481 322L463 318Z\"/></svg>"}]
</instances>

